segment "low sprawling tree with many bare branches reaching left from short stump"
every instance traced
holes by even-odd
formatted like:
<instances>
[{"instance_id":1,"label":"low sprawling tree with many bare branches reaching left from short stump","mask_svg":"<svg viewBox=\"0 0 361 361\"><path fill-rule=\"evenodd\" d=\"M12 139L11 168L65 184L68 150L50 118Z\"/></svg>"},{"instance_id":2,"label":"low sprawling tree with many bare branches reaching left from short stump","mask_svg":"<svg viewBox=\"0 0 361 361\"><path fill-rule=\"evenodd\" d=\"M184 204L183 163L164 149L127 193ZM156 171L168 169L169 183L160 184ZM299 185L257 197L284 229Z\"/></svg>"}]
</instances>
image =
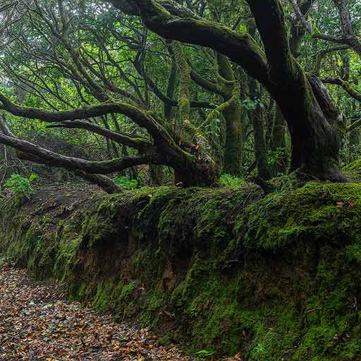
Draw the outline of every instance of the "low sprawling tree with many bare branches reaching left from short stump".
<instances>
[{"instance_id":1,"label":"low sprawling tree with many bare branches reaching left from short stump","mask_svg":"<svg viewBox=\"0 0 361 361\"><path fill-rule=\"evenodd\" d=\"M20 31L19 37L22 41L18 49L20 51L23 51L24 47L29 49L32 58L27 63L21 63L21 59L23 59L21 54L16 56L14 47L11 47L8 54L10 60L8 63L5 63L6 71L9 75L16 78L17 84L24 82L25 88L31 88L49 106L54 108L54 104L51 104L47 97L44 96L44 91L58 99L62 104L66 104L66 106L70 106L73 109L69 111L45 111L36 107L20 106L20 104L14 103L4 93L0 94L1 109L15 116L35 118L54 123L50 127L84 129L102 135L116 144L133 148L137 154L128 157L117 157L116 159L102 162L85 161L83 159L63 157L61 154L54 154L54 152L42 149L30 142L25 142L6 133L1 134L1 142L20 150L23 158L87 174L114 173L115 171L121 171L140 164L155 164L171 166L176 173L176 180L182 182L185 186L212 185L215 181L215 166L211 155L207 153L209 149L205 149L206 147L202 148L200 145L192 145L185 141L177 142L177 136L175 134L171 135L172 132L169 129L169 125L161 118L158 118L157 114L152 114L147 110L146 100L140 91L140 86L133 80L130 80L121 66L118 65L111 52L106 49L104 39L99 36L97 37L99 51L105 54L106 59L120 73L121 79L133 87L133 92L123 90L114 84L112 80L109 80L107 78L109 68L104 69L102 64L94 65L94 63L91 63L89 59L92 59L92 49L84 49L81 42L78 42L75 37L75 35L81 34L84 28L78 32L74 31L78 24L73 19L70 20L70 12L64 6L63 1L58 2L58 11L54 11L54 8L51 7L51 2L42 4L36 2L35 6L35 11L26 12L25 18L27 18L26 20L30 19L30 24L34 26L32 31L37 30L43 40L39 42L39 35L35 34L37 48L35 48L35 51L32 51L32 44L29 46L28 43L29 37L23 36L23 32ZM59 16L61 27L54 20L56 16ZM20 30L23 29L20 27ZM11 29L9 34L11 35L12 32L13 29ZM7 35L7 37L10 35ZM17 37L16 41L18 41ZM45 46L42 42L45 42ZM39 51L39 43L42 46L42 51ZM178 48L182 53L181 47ZM20 69L26 68L27 71L34 74L34 77L21 75L18 69L14 69L11 66L14 60L20 63ZM137 63L139 66L141 61L136 57L134 63ZM51 72L49 73L49 67L53 71L52 75ZM45 68L47 68L47 81L44 80L42 75L45 72ZM140 65L140 68L142 68L142 65ZM57 79L51 78L51 76L59 78L59 71L61 76L65 76L75 84L82 103L87 104L86 98L88 96L85 94L89 94L99 104L87 107L73 106L60 91L61 87L57 84ZM140 73L144 76L145 82L149 83L150 80L147 78L147 74ZM54 83L54 87L49 86L49 83L51 83L49 79ZM85 90L85 94L83 90ZM159 97L157 88L153 87L152 90ZM147 94L145 95L147 96ZM189 97L187 98L188 105L181 104L181 99L178 102L166 98L164 102L171 104L171 106L177 106L180 109L181 116L185 116L185 118L189 118L189 114L186 114L188 107L214 108L209 102L192 102ZM127 100L127 102L124 100ZM108 115L113 116L115 123L117 123L117 116L119 114L132 119L137 127L142 130L142 135L137 136L123 133L119 128L116 131L111 130L107 125L106 117ZM99 126L96 121L98 118L103 119L105 128ZM187 120L185 118L183 119L184 121ZM93 119L95 121L89 122L85 121L85 119Z\"/></svg>"}]
</instances>

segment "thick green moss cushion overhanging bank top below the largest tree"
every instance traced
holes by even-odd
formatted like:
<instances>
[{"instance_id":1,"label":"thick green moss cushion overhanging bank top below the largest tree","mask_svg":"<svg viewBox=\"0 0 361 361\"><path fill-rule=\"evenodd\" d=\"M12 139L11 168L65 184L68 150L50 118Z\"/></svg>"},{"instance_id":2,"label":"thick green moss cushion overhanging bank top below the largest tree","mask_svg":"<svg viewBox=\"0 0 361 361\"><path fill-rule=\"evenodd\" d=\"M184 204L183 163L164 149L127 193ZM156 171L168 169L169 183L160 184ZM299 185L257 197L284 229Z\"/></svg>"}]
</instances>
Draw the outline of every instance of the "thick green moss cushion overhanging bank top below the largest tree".
<instances>
[{"instance_id":1,"label":"thick green moss cushion overhanging bank top below the largest tree","mask_svg":"<svg viewBox=\"0 0 361 361\"><path fill-rule=\"evenodd\" d=\"M238 229L247 247L289 247L302 240L359 238L361 194L357 183L310 182L291 192L271 193L251 204Z\"/></svg>"}]
</instances>

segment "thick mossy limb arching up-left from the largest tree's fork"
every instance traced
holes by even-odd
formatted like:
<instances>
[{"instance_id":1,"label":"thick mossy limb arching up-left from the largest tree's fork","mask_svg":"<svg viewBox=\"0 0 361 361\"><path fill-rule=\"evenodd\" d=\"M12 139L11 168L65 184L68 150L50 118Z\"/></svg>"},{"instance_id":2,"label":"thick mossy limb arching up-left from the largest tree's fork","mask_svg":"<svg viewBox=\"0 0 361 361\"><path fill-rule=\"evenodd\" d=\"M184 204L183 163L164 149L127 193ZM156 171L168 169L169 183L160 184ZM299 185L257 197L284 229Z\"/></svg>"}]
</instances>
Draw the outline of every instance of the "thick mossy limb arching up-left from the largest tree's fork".
<instances>
[{"instance_id":1,"label":"thick mossy limb arching up-left from the largest tree's fork","mask_svg":"<svg viewBox=\"0 0 361 361\"><path fill-rule=\"evenodd\" d=\"M199 18L175 1L130 0L128 3L137 6L147 27L161 37L219 51L271 88L264 53L250 35ZM114 6L118 6L118 1Z\"/></svg>"}]
</instances>

